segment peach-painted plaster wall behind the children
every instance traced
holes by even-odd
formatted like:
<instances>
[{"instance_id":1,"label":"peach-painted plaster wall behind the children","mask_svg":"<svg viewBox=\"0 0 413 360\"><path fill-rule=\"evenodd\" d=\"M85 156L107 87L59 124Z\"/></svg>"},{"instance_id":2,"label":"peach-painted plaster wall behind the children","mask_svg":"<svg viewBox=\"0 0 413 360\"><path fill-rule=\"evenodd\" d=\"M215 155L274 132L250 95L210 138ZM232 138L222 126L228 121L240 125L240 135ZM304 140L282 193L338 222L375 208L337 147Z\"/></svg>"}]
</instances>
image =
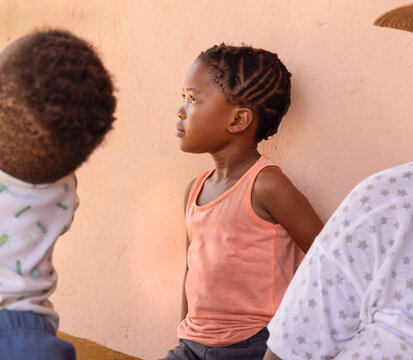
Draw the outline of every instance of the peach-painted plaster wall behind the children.
<instances>
[{"instance_id":1,"label":"peach-painted plaster wall behind the children","mask_svg":"<svg viewBox=\"0 0 413 360\"><path fill-rule=\"evenodd\" d=\"M412 158L411 33L373 26L411 1L0 0L0 45L35 26L91 41L118 87L118 122L80 169L81 206L58 243L61 330L156 359L176 343L182 195L211 166L178 150L187 67L215 43L279 53L293 104L262 149L325 220L366 175Z\"/></svg>"}]
</instances>

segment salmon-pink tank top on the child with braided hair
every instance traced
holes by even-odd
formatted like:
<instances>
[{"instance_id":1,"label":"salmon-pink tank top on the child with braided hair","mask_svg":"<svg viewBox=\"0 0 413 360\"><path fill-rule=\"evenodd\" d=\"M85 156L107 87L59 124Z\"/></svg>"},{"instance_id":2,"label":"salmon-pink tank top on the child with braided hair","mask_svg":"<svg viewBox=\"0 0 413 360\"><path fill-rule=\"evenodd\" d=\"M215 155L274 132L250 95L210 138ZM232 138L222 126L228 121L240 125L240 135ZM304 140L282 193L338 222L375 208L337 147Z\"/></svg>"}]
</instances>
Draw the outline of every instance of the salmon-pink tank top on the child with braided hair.
<instances>
[{"instance_id":1,"label":"salmon-pink tank top on the child with braided hair","mask_svg":"<svg viewBox=\"0 0 413 360\"><path fill-rule=\"evenodd\" d=\"M212 347L243 341L266 327L294 274L294 242L287 231L258 217L251 205L257 174L276 166L262 156L212 202L198 195L214 170L192 185L186 211L190 241L188 314L178 336Z\"/></svg>"}]
</instances>

